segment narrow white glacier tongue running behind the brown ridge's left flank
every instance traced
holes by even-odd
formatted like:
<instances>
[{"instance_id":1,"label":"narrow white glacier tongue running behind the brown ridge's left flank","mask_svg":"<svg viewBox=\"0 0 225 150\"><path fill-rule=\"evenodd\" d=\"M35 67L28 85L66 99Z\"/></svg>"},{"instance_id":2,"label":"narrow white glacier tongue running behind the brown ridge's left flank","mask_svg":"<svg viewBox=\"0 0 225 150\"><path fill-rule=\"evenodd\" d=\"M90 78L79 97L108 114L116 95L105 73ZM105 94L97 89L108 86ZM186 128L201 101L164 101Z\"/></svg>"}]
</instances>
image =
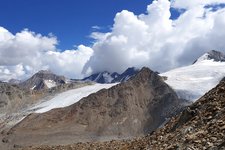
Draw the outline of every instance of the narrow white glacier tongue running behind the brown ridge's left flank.
<instances>
[{"instance_id":1,"label":"narrow white glacier tongue running behind the brown ridge's left flank","mask_svg":"<svg viewBox=\"0 0 225 150\"><path fill-rule=\"evenodd\" d=\"M40 104L29 109L30 111L35 110L35 113L44 113L54 108L62 108L66 106L70 106L76 102L78 102L83 97L86 97L92 93L95 93L101 89L108 89L114 84L94 84L90 86L85 86L73 90L68 90L66 92L60 93L56 95L54 98L41 102Z\"/></svg>"}]
</instances>

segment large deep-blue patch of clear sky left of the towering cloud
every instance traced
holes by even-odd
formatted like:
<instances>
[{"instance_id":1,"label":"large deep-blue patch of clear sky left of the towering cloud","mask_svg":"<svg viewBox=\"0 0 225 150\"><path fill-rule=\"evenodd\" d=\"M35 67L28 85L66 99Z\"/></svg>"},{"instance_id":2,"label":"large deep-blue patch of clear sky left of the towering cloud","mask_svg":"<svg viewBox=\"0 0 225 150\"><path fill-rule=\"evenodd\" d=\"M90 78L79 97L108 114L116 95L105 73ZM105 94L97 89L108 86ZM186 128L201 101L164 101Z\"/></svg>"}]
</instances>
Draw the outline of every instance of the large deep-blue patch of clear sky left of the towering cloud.
<instances>
[{"instance_id":1,"label":"large deep-blue patch of clear sky left of the towering cloud","mask_svg":"<svg viewBox=\"0 0 225 150\"><path fill-rule=\"evenodd\" d=\"M28 28L36 33L53 33L58 48L90 45L92 26L103 32L113 24L117 12L124 9L144 13L151 0L1 0L0 26L12 33Z\"/></svg>"}]
</instances>

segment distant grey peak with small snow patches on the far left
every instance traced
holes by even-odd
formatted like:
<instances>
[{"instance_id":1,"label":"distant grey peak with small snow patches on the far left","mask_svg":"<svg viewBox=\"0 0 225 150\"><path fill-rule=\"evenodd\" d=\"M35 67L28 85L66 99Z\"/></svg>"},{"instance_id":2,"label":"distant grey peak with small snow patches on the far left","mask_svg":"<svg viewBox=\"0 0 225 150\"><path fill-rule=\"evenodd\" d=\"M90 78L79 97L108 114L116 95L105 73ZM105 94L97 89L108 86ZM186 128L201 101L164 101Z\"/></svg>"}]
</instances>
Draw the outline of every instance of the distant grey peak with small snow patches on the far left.
<instances>
[{"instance_id":1,"label":"distant grey peak with small snow patches on the far left","mask_svg":"<svg viewBox=\"0 0 225 150\"><path fill-rule=\"evenodd\" d=\"M66 78L64 76L58 76L50 71L41 70L28 80L20 83L19 86L24 89L42 90L65 83Z\"/></svg>"}]
</instances>

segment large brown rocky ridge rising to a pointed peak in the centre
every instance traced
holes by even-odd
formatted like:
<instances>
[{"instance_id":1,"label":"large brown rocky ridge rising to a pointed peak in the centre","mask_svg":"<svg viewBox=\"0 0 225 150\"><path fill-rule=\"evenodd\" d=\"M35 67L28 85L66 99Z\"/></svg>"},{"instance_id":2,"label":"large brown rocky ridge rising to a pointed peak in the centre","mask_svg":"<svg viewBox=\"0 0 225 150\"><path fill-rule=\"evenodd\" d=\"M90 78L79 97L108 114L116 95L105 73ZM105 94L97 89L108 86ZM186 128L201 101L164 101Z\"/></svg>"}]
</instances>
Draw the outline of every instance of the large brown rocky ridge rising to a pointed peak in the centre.
<instances>
[{"instance_id":1,"label":"large brown rocky ridge rising to a pointed peak in the centre","mask_svg":"<svg viewBox=\"0 0 225 150\"><path fill-rule=\"evenodd\" d=\"M31 114L7 139L18 145L67 144L145 135L182 107L163 79L148 68L110 89L65 108Z\"/></svg>"}]
</instances>

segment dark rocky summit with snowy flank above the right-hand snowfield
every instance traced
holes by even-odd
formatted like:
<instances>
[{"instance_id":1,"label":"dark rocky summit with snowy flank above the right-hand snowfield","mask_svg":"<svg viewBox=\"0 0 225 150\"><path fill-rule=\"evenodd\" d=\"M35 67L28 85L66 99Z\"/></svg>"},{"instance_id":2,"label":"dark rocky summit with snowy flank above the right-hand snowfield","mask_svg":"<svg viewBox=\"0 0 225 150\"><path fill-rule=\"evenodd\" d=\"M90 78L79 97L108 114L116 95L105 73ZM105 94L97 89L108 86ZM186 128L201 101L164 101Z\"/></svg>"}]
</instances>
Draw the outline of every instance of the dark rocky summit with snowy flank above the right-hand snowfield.
<instances>
[{"instance_id":1,"label":"dark rocky summit with snowy flank above the right-hand snowfield","mask_svg":"<svg viewBox=\"0 0 225 150\"><path fill-rule=\"evenodd\" d=\"M203 60L214 60L217 62L225 62L225 55L220 51L211 50L203 54L201 57L199 57L193 64L202 62Z\"/></svg>"}]
</instances>

